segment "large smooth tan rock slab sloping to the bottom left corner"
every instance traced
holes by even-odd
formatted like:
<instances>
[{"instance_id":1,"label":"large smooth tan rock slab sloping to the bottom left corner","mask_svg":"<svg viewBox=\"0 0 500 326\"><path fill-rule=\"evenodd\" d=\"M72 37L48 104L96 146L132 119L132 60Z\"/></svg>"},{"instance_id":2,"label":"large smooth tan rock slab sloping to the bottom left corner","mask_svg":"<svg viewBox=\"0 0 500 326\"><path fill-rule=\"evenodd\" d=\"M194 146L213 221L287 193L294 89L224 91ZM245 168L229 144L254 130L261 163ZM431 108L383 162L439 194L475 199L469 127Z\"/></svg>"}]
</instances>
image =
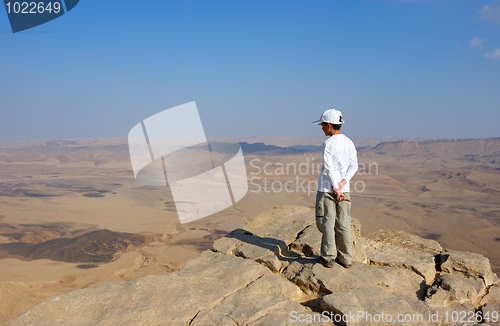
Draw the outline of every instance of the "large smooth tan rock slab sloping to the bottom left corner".
<instances>
[{"instance_id":1,"label":"large smooth tan rock slab sloping to the bottom left corner","mask_svg":"<svg viewBox=\"0 0 500 326\"><path fill-rule=\"evenodd\" d=\"M11 325L186 325L199 311L214 309L265 275L274 276L255 262L206 251L175 273L53 297L19 315ZM283 282L287 286L282 289ZM276 282L271 293L290 295L293 285L283 282ZM263 295L270 290L261 291ZM299 292L293 292L295 298ZM283 297L282 302L293 302Z\"/></svg>"}]
</instances>

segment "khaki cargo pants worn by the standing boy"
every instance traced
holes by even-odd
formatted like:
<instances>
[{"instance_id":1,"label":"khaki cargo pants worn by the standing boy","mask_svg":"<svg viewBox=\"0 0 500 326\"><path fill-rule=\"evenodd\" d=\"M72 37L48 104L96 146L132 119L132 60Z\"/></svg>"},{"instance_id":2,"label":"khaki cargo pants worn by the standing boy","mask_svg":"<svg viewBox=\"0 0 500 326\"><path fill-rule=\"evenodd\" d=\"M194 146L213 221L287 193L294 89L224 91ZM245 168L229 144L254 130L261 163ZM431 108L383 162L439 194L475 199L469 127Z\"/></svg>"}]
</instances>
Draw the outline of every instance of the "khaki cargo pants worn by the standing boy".
<instances>
[{"instance_id":1,"label":"khaki cargo pants worn by the standing boy","mask_svg":"<svg viewBox=\"0 0 500 326\"><path fill-rule=\"evenodd\" d=\"M321 256L326 260L338 258L343 264L351 264L351 196L337 201L333 193L316 194L316 225L323 233Z\"/></svg>"}]
</instances>

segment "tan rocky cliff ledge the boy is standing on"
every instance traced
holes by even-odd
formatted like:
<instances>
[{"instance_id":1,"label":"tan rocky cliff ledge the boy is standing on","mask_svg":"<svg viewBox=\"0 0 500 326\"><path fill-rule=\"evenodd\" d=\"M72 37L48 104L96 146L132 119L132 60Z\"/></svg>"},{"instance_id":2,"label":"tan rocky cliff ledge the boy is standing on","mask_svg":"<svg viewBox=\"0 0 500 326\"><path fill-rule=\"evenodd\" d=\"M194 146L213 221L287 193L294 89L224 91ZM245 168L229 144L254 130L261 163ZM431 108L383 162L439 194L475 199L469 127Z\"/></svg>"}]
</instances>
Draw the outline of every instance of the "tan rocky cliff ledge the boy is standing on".
<instances>
[{"instance_id":1,"label":"tan rocky cliff ledge the boy is standing on","mask_svg":"<svg viewBox=\"0 0 500 326\"><path fill-rule=\"evenodd\" d=\"M499 325L487 258L402 231L361 237L351 269L317 263L314 212L283 206L179 271L52 297L10 325Z\"/></svg>"}]
</instances>

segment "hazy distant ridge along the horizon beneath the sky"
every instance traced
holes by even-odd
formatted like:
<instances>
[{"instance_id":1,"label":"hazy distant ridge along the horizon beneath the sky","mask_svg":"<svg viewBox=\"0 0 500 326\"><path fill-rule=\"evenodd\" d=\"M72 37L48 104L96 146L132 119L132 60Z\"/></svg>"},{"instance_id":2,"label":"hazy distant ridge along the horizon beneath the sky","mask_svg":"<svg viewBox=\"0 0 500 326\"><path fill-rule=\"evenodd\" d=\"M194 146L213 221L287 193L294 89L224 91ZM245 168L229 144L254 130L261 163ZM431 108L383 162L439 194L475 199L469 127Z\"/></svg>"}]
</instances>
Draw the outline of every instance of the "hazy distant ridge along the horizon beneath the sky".
<instances>
[{"instance_id":1,"label":"hazy distant ridge along the horizon beneath the sky","mask_svg":"<svg viewBox=\"0 0 500 326\"><path fill-rule=\"evenodd\" d=\"M317 138L317 145L306 144L297 138L296 144L288 146L273 145L273 139L264 142L239 142L244 154L262 153L266 155L294 155L321 151L321 141ZM295 139L294 139L295 140ZM211 141L213 145L220 141ZM290 140L291 141L291 140ZM446 156L464 160L482 160L500 162L500 137L472 138L472 139L426 139L426 140L394 140L377 142L373 139L358 140L353 138L356 148L360 152L372 152L380 155L411 156L428 155ZM236 142L232 142L233 144ZM0 144L1 145L1 144ZM1 147L1 146L0 146ZM45 142L5 143L0 151L0 162L23 161L40 162L55 158L61 164L74 162L93 162L96 166L105 164L110 160L128 161L128 145L126 143L89 143L83 140L64 141L53 140Z\"/></svg>"}]
</instances>

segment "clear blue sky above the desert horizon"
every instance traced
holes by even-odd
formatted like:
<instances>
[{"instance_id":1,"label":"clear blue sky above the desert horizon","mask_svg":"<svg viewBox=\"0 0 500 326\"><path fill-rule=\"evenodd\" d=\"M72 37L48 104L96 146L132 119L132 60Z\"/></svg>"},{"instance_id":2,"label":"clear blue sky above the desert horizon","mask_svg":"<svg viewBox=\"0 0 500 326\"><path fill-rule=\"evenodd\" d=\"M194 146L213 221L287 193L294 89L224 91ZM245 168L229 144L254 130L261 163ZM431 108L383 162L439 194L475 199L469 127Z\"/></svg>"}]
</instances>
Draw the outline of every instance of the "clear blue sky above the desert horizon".
<instances>
[{"instance_id":1,"label":"clear blue sky above the desert horizon","mask_svg":"<svg viewBox=\"0 0 500 326\"><path fill-rule=\"evenodd\" d=\"M0 140L126 137L196 101L207 135L498 137L499 0L82 0L13 34ZM189 121L186 121L189 128Z\"/></svg>"}]
</instances>

